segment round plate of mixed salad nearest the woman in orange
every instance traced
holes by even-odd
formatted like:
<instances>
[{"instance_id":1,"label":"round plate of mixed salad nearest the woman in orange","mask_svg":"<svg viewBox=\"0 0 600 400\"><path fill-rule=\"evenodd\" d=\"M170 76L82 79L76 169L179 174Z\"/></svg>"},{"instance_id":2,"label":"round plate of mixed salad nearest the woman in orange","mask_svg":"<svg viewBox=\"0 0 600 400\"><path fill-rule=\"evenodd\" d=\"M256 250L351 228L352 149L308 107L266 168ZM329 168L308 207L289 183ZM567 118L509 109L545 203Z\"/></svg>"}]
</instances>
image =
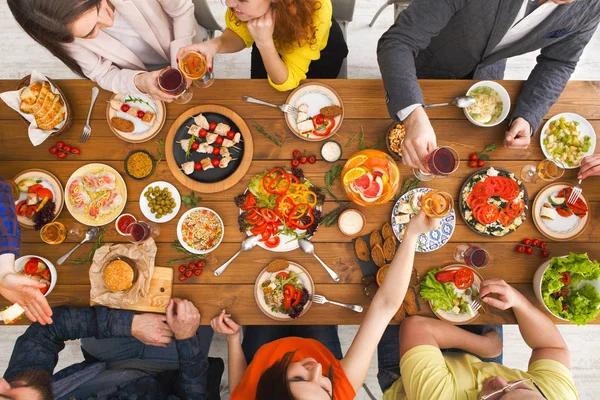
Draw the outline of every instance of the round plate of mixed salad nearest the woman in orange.
<instances>
[{"instance_id":1,"label":"round plate of mixed salad nearest the woman in orange","mask_svg":"<svg viewBox=\"0 0 600 400\"><path fill-rule=\"evenodd\" d=\"M310 308L315 284L299 264L275 260L256 278L254 295L258 308L269 318L288 322L303 316Z\"/></svg>"}]
</instances>

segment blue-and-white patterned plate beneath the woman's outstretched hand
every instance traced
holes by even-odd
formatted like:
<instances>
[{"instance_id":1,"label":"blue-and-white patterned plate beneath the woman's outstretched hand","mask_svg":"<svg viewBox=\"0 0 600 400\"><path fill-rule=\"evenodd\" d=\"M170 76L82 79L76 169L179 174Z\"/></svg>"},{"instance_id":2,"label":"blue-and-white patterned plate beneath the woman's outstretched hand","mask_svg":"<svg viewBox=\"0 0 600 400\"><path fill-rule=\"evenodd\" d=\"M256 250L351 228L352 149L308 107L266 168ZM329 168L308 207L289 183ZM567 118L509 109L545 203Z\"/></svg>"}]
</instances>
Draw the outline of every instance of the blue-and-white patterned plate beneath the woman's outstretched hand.
<instances>
[{"instance_id":1,"label":"blue-and-white patterned plate beneath the woman's outstretched hand","mask_svg":"<svg viewBox=\"0 0 600 400\"><path fill-rule=\"evenodd\" d=\"M410 190L400 196L394 205L394 209L392 210L392 229L400 243L402 243L408 222L421 210L421 198L425 193L432 190L431 188ZM419 235L416 251L419 253L428 253L441 248L452 237L455 226L456 213L452 210L448 215L440 219L440 227L438 229Z\"/></svg>"}]
</instances>

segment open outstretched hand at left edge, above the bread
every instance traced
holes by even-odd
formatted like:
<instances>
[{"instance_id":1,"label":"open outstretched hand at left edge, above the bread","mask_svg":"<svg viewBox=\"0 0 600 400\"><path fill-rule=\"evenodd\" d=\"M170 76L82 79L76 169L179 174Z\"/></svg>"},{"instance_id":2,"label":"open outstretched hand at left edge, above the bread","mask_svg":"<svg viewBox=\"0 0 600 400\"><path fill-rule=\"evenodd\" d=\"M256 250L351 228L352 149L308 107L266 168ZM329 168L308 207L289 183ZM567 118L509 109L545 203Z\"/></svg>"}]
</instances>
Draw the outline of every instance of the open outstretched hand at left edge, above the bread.
<instances>
[{"instance_id":1,"label":"open outstretched hand at left edge, above the bread","mask_svg":"<svg viewBox=\"0 0 600 400\"><path fill-rule=\"evenodd\" d=\"M52 309L40 292L46 286L45 283L11 271L0 276L0 295L11 303L20 305L31 322L39 322L41 325L52 323Z\"/></svg>"}]
</instances>

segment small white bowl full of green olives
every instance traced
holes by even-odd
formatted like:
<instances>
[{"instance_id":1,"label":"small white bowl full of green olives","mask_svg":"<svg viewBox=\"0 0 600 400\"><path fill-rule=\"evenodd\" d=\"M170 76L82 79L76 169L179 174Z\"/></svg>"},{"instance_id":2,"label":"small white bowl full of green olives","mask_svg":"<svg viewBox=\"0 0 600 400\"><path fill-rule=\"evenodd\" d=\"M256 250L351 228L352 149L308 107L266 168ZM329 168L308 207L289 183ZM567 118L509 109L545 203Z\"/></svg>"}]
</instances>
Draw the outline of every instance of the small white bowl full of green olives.
<instances>
[{"instance_id":1,"label":"small white bowl full of green olives","mask_svg":"<svg viewBox=\"0 0 600 400\"><path fill-rule=\"evenodd\" d=\"M168 222L181 208L181 195L169 182L152 182L142 190L140 210L152 222Z\"/></svg>"}]
</instances>

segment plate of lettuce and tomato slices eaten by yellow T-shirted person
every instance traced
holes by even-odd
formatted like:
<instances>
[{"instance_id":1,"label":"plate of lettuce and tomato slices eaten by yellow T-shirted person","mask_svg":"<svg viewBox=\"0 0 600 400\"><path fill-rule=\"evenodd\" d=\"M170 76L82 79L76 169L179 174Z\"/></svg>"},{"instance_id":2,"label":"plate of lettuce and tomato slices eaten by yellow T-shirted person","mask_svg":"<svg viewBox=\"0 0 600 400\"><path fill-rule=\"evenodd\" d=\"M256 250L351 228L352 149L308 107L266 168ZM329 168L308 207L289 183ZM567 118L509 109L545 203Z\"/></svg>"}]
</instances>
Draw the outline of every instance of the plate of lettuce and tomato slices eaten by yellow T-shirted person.
<instances>
[{"instance_id":1,"label":"plate of lettuce and tomato slices eaten by yellow T-shirted person","mask_svg":"<svg viewBox=\"0 0 600 400\"><path fill-rule=\"evenodd\" d=\"M483 277L462 264L432 269L421 281L421 297L444 321L460 325L474 321L486 312L485 304L475 311L471 306L479 297Z\"/></svg>"}]
</instances>

